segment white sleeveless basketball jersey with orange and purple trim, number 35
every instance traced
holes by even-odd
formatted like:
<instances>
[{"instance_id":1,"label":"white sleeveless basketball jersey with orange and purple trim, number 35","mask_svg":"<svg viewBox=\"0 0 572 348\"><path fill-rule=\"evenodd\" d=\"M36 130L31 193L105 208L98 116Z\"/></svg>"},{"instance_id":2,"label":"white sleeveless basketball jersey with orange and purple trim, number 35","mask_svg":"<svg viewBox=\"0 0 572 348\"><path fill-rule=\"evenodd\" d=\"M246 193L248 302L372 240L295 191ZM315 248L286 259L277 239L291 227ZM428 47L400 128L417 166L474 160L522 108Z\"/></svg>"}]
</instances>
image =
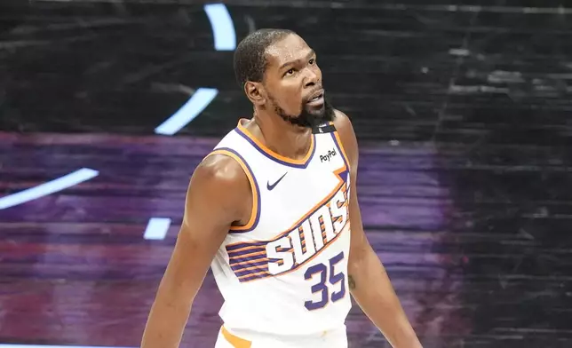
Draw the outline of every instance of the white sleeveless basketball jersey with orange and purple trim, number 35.
<instances>
[{"instance_id":1,"label":"white sleeveless basketball jersey with orange and purple trim, number 35","mask_svg":"<svg viewBox=\"0 0 572 348\"><path fill-rule=\"evenodd\" d=\"M303 160L275 154L242 123L211 154L241 163L250 222L233 227L212 262L225 328L311 335L344 327L351 299L349 164L333 123L314 130Z\"/></svg>"}]
</instances>

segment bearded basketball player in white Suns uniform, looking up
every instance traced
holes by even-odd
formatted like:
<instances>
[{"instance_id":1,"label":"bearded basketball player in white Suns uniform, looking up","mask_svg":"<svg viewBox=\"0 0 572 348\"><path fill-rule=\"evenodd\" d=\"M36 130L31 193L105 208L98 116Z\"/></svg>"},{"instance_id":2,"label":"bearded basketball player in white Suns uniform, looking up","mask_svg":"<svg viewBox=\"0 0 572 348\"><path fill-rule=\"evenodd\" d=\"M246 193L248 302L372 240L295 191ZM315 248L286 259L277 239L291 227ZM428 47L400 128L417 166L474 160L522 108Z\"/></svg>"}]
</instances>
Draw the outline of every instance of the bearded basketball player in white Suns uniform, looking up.
<instances>
[{"instance_id":1,"label":"bearded basketball player in white Suns uniform, looking up","mask_svg":"<svg viewBox=\"0 0 572 348\"><path fill-rule=\"evenodd\" d=\"M350 295L393 347L420 347L363 232L357 141L316 53L262 29L238 45L234 70L254 115L190 180L141 346L179 346L211 266L225 299L216 348L346 348Z\"/></svg>"}]
</instances>

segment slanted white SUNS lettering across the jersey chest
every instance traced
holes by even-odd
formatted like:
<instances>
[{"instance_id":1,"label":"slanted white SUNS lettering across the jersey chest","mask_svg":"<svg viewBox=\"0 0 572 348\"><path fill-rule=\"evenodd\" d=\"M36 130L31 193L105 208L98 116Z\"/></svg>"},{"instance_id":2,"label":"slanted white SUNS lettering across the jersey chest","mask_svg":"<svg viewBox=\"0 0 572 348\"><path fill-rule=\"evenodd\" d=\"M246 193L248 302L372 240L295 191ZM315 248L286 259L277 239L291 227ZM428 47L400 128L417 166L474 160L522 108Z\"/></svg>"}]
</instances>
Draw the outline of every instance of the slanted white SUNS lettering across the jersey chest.
<instances>
[{"instance_id":1,"label":"slanted white SUNS lettering across the jersey chest","mask_svg":"<svg viewBox=\"0 0 572 348\"><path fill-rule=\"evenodd\" d=\"M268 272L275 275L303 264L342 232L347 222L346 194L340 189L328 204L282 238L266 244Z\"/></svg>"}]
</instances>

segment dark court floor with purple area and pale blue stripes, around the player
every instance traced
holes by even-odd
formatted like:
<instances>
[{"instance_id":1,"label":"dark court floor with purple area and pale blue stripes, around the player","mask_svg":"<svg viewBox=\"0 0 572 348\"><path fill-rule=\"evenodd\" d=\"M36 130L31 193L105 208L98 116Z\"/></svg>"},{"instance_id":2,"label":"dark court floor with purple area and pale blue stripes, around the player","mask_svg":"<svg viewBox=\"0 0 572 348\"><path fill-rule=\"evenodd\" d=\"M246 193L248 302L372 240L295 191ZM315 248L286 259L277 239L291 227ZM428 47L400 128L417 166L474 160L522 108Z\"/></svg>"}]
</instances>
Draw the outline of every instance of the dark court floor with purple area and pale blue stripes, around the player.
<instances>
[{"instance_id":1,"label":"dark court floor with purple area and pale blue stripes, around the player","mask_svg":"<svg viewBox=\"0 0 572 348\"><path fill-rule=\"evenodd\" d=\"M258 28L317 52L424 347L572 346L572 7L458 3L2 0L0 348L139 346L189 178L252 115L232 63ZM220 305L209 273L181 346L213 347Z\"/></svg>"}]
</instances>

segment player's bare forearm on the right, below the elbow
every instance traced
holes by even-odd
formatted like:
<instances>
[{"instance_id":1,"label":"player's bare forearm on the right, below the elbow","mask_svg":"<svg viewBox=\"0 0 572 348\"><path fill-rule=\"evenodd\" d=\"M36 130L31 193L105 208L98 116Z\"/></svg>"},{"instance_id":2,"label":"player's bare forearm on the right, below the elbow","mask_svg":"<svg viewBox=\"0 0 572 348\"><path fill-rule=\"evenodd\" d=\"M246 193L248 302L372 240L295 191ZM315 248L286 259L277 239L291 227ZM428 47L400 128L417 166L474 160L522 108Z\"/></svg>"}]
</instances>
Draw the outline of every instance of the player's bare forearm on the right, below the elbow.
<instances>
[{"instance_id":1,"label":"player's bare forearm on the right, below the elbow","mask_svg":"<svg viewBox=\"0 0 572 348\"><path fill-rule=\"evenodd\" d=\"M385 267L373 249L351 265L348 283L352 296L394 348L421 347Z\"/></svg>"}]
</instances>

